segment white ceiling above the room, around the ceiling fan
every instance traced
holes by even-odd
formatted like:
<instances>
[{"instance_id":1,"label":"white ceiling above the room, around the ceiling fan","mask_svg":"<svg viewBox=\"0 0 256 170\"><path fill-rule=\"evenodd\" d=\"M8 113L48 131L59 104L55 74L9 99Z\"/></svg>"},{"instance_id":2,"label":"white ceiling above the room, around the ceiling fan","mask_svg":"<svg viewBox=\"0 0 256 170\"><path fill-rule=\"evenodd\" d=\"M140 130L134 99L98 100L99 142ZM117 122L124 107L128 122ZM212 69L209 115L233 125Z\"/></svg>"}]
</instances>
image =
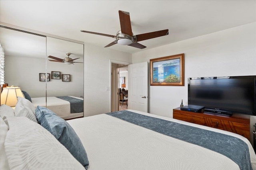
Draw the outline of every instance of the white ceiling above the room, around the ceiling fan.
<instances>
[{"instance_id":1,"label":"white ceiling above the room, around the ceiling fan","mask_svg":"<svg viewBox=\"0 0 256 170\"><path fill-rule=\"evenodd\" d=\"M104 47L114 39L80 30L116 35L118 10L130 12L134 35L169 29L169 35L140 41L145 49L108 47L126 53L256 21L255 0L0 0L0 21Z\"/></svg>"}]
</instances>

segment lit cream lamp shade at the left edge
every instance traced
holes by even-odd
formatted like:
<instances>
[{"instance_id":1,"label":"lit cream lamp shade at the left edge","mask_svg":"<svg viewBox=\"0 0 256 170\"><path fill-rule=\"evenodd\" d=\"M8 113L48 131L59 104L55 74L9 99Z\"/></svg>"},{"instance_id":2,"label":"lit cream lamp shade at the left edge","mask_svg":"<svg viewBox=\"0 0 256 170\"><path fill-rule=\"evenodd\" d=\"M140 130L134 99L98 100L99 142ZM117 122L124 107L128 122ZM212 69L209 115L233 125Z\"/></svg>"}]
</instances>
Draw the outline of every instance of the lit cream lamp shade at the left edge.
<instances>
[{"instance_id":1,"label":"lit cream lamp shade at the left edge","mask_svg":"<svg viewBox=\"0 0 256 170\"><path fill-rule=\"evenodd\" d=\"M3 88L1 93L1 105L6 104L10 107L16 106L18 101L17 96L24 98L24 95L19 87Z\"/></svg>"}]
</instances>

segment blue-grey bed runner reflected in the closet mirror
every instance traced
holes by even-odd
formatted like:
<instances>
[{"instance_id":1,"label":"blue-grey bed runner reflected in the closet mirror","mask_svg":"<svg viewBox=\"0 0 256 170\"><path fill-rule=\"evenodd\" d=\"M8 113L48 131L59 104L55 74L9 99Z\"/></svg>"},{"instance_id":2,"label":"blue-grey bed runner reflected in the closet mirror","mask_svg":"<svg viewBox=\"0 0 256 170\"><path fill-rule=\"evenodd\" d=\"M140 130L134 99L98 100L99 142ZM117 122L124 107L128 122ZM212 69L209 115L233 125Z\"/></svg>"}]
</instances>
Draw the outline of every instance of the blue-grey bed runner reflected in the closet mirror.
<instances>
[{"instance_id":1,"label":"blue-grey bed runner reflected in the closet mirror","mask_svg":"<svg viewBox=\"0 0 256 170\"><path fill-rule=\"evenodd\" d=\"M84 100L72 98L70 96L58 96L56 98L70 102L70 113L84 112Z\"/></svg>"}]
</instances>

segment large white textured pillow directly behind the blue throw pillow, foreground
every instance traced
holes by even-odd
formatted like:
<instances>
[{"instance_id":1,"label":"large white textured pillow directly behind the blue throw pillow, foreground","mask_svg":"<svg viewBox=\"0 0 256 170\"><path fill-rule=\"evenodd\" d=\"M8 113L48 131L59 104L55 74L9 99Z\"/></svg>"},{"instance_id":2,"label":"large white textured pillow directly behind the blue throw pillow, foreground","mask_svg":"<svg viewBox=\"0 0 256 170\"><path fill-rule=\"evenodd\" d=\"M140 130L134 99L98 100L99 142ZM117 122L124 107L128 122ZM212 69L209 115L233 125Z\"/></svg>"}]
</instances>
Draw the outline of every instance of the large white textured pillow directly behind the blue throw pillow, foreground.
<instances>
[{"instance_id":1,"label":"large white textured pillow directly behind the blue throw pillow, foreground","mask_svg":"<svg viewBox=\"0 0 256 170\"><path fill-rule=\"evenodd\" d=\"M12 170L84 170L46 129L27 117L7 117L5 150Z\"/></svg>"}]
</instances>

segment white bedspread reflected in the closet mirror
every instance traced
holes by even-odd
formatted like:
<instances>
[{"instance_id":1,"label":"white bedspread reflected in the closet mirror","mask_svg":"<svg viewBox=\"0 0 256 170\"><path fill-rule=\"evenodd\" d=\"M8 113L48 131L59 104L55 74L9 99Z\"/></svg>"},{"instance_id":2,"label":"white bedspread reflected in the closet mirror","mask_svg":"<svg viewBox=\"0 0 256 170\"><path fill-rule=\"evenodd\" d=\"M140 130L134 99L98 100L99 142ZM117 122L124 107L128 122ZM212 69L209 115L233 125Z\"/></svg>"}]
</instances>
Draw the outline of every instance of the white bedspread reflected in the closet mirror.
<instances>
[{"instance_id":1,"label":"white bedspread reflected in the closet mirror","mask_svg":"<svg viewBox=\"0 0 256 170\"><path fill-rule=\"evenodd\" d=\"M74 96L70 96L70 97L78 98L78 97L74 97ZM83 100L82 98L78 98L78 99ZM46 107L45 97L31 98L31 100L32 100L32 104L35 107L37 107L37 106ZM56 98L56 97L47 97L47 108L52 110L54 113L56 113L62 119L71 119L74 117L83 116L83 112L70 113L70 102Z\"/></svg>"}]
</instances>

